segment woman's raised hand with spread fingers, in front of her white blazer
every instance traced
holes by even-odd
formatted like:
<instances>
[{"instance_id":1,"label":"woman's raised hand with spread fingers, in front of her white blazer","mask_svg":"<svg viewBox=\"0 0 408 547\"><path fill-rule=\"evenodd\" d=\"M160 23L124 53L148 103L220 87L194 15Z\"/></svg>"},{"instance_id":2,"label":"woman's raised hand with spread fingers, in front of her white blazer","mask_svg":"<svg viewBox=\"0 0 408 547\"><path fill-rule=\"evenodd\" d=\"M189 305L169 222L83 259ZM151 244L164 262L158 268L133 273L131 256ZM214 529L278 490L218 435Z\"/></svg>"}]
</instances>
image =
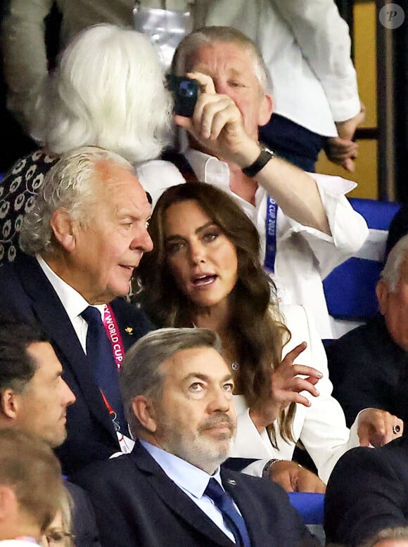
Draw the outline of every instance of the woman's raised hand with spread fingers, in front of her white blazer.
<instances>
[{"instance_id":1,"label":"woman's raised hand with spread fingers, in front of her white blazer","mask_svg":"<svg viewBox=\"0 0 408 547\"><path fill-rule=\"evenodd\" d=\"M310 406L309 399L300 392L307 391L313 397L319 397L319 392L314 386L319 382L322 374L311 366L293 364L306 347L306 342L302 342L285 356L281 364L272 372L269 401L263 404L262 408L250 408L250 418L259 432L273 423L289 404L299 403Z\"/></svg>"}]
</instances>

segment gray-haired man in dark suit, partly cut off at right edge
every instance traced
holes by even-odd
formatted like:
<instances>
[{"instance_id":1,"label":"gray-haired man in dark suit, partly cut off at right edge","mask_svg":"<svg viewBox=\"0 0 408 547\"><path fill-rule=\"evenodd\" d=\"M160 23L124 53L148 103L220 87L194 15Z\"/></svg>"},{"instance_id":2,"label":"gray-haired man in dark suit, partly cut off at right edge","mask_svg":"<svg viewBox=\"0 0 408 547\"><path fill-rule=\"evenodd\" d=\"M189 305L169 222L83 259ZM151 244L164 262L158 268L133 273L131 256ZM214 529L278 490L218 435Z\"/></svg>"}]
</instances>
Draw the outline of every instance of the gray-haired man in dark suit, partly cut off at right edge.
<instances>
[{"instance_id":1,"label":"gray-haired man in dark suit, partly cut off at right edge","mask_svg":"<svg viewBox=\"0 0 408 547\"><path fill-rule=\"evenodd\" d=\"M326 347L348 424L367 407L408 418L408 236L390 251L376 293L379 313ZM400 432L402 422L394 427Z\"/></svg>"}]
</instances>

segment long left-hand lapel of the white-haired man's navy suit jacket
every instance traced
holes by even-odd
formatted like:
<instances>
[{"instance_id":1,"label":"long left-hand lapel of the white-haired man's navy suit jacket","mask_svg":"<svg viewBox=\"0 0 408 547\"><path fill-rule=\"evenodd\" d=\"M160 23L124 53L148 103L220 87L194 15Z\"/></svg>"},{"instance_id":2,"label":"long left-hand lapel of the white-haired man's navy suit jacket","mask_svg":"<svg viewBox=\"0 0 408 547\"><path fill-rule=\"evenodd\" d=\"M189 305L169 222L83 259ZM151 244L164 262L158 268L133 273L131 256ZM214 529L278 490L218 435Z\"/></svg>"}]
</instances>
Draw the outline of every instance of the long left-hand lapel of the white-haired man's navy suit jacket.
<instances>
[{"instance_id":1,"label":"long left-hand lapel of the white-haired man's navy suit jacket","mask_svg":"<svg viewBox=\"0 0 408 547\"><path fill-rule=\"evenodd\" d=\"M23 257L22 262L24 267L18 269L18 274L20 275L20 272L24 274L20 276L20 281L32 299L34 316L42 325L46 335L49 336L56 354L61 357L63 364L66 366L68 363L91 412L116 439L112 420L106 411L101 392L89 368L87 356L84 354L58 295L36 259Z\"/></svg>"}]
</instances>

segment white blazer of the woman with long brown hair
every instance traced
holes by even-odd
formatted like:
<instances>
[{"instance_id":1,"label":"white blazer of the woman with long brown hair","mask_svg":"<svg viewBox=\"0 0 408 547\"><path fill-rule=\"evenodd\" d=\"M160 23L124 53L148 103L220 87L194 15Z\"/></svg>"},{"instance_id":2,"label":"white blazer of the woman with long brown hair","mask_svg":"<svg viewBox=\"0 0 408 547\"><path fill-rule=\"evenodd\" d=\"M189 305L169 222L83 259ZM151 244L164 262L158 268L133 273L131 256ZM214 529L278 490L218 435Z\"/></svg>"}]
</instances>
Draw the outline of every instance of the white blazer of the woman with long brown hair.
<instances>
[{"instance_id":1,"label":"white blazer of the woman with long brown hair","mask_svg":"<svg viewBox=\"0 0 408 547\"><path fill-rule=\"evenodd\" d=\"M295 360L305 366L317 368L323 378L317 382L319 397L312 397L308 392L302 395L310 400L311 406L296 404L296 413L293 420L293 437L300 439L314 461L319 477L325 483L329 480L331 471L343 453L359 446L357 435L357 420L349 430L345 425L343 409L336 399L331 396L333 385L329 379L327 358L320 337L313 321L301 306L283 306L282 314L286 326L291 331L291 340L283 348L282 356L288 354L300 342L306 341L307 348ZM295 443L283 441L276 427L276 442L278 449L274 449L264 430L257 431L249 416L249 408L242 395L234 395L234 404L238 416L236 439L231 456L239 458L257 458L262 461L248 466L248 474L260 475L262 466L272 458L291 460Z\"/></svg>"}]
</instances>

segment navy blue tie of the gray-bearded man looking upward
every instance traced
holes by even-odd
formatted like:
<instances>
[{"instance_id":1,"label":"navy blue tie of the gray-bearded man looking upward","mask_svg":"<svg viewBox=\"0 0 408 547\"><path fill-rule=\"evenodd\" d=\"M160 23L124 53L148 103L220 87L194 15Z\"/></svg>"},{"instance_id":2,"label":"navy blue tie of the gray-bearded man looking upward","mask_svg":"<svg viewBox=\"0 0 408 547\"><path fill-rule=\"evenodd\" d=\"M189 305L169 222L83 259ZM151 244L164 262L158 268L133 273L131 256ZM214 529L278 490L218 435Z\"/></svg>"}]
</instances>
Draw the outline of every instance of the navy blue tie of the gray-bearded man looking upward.
<instances>
[{"instance_id":1,"label":"navy blue tie of the gray-bearded man looking upward","mask_svg":"<svg viewBox=\"0 0 408 547\"><path fill-rule=\"evenodd\" d=\"M211 498L215 507L221 511L225 525L234 534L236 545L238 547L250 547L248 530L243 517L236 510L232 498L214 478L208 481L204 494Z\"/></svg>"}]
</instances>

